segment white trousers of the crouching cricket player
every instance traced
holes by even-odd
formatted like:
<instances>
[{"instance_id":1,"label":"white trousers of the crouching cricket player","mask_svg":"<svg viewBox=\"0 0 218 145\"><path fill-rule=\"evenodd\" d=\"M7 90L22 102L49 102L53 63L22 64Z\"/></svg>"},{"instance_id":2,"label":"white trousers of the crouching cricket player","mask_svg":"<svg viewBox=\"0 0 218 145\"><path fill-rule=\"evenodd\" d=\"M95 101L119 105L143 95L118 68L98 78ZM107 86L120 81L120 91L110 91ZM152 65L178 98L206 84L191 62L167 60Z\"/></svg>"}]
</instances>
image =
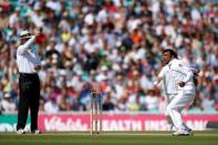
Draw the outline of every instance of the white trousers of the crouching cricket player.
<instances>
[{"instance_id":1,"label":"white trousers of the crouching cricket player","mask_svg":"<svg viewBox=\"0 0 218 145\"><path fill-rule=\"evenodd\" d=\"M187 130L187 126L181 117L181 110L193 103L194 99L195 92L186 94L181 91L175 95L167 105L167 114L170 116L177 130Z\"/></svg>"}]
</instances>

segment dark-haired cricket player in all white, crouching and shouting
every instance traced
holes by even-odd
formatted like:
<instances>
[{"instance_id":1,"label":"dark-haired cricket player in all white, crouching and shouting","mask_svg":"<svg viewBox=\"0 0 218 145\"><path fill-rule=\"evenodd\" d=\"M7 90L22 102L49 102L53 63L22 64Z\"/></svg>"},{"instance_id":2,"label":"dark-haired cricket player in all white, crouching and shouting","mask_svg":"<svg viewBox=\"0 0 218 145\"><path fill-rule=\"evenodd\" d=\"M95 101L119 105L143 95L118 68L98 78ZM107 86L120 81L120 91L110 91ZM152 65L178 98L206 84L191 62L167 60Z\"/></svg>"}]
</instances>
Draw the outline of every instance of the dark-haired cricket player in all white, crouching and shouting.
<instances>
[{"instance_id":1,"label":"dark-haired cricket player in all white, crouching and shouting","mask_svg":"<svg viewBox=\"0 0 218 145\"><path fill-rule=\"evenodd\" d=\"M191 135L191 130L183 121L181 110L195 99L194 74L172 49L163 51L163 61L165 66L158 74L155 87L162 82L168 102L166 114L177 130L173 135Z\"/></svg>"}]
</instances>

